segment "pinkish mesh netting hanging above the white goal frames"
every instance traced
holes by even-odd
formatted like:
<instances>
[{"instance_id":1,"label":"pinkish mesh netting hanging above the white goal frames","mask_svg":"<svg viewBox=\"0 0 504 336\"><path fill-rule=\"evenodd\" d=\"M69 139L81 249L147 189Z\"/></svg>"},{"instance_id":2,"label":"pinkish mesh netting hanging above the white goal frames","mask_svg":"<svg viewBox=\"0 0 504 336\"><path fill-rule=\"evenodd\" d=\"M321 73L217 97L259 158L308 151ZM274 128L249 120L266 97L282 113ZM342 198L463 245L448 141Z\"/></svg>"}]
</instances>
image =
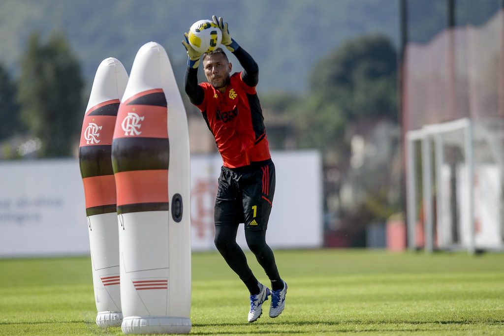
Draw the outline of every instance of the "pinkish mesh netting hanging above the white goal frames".
<instances>
[{"instance_id":1,"label":"pinkish mesh netting hanging above the white goal frames","mask_svg":"<svg viewBox=\"0 0 504 336\"><path fill-rule=\"evenodd\" d=\"M403 127L459 118L504 118L504 12L484 25L409 43L403 63Z\"/></svg>"}]
</instances>

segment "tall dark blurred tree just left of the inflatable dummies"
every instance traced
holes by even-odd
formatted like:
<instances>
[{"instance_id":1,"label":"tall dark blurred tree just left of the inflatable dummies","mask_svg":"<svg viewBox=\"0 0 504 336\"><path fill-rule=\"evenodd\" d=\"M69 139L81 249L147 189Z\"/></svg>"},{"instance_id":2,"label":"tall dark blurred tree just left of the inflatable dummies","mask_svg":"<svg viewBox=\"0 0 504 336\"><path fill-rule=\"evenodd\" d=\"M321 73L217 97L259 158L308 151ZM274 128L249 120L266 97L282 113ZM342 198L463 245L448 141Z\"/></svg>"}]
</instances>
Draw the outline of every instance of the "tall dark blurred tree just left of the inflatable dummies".
<instances>
[{"instance_id":1,"label":"tall dark blurred tree just left of the inflatable dummies","mask_svg":"<svg viewBox=\"0 0 504 336\"><path fill-rule=\"evenodd\" d=\"M79 139L83 96L80 65L65 36L46 43L34 33L21 59L19 117L40 144L40 157L68 157Z\"/></svg>"}]
</instances>

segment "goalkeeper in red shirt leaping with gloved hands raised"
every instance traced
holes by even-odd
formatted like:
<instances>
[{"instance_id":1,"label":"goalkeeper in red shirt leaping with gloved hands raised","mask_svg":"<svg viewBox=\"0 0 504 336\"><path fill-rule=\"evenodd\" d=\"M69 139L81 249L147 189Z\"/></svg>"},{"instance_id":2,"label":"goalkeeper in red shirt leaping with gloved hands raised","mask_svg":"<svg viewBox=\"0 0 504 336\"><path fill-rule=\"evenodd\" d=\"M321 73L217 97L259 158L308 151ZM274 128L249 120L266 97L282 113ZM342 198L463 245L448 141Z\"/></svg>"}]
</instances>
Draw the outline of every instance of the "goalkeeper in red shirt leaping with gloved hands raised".
<instances>
[{"instance_id":1,"label":"goalkeeper in red shirt leaping with gloved hands raised","mask_svg":"<svg viewBox=\"0 0 504 336\"><path fill-rule=\"evenodd\" d=\"M187 40L185 92L202 112L222 156L223 166L215 200L215 246L250 292L248 322L262 314L271 294L270 317L285 306L287 284L280 278L273 251L266 243L266 229L275 192L275 166L271 160L263 111L256 92L259 68L256 61L229 35L222 18L214 23L222 31L221 44L231 51L243 72L231 74L231 63L221 48L201 54ZM202 61L208 83L198 84ZM271 281L271 291L250 270L236 243L238 224L244 223L250 250Z\"/></svg>"}]
</instances>

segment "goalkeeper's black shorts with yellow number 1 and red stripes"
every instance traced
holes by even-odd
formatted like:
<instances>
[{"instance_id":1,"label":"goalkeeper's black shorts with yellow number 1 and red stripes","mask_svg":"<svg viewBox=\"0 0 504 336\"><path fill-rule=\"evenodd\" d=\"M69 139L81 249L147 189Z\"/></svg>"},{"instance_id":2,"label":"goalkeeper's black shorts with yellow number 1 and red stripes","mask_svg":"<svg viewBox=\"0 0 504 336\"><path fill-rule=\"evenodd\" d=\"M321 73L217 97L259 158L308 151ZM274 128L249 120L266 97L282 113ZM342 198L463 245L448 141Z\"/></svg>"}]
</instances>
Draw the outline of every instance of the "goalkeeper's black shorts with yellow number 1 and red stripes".
<instances>
[{"instance_id":1,"label":"goalkeeper's black shorts with yellow number 1 and red stripes","mask_svg":"<svg viewBox=\"0 0 504 336\"><path fill-rule=\"evenodd\" d=\"M271 159L239 168L221 168L215 225L244 223L245 230L266 230L275 193Z\"/></svg>"}]
</instances>

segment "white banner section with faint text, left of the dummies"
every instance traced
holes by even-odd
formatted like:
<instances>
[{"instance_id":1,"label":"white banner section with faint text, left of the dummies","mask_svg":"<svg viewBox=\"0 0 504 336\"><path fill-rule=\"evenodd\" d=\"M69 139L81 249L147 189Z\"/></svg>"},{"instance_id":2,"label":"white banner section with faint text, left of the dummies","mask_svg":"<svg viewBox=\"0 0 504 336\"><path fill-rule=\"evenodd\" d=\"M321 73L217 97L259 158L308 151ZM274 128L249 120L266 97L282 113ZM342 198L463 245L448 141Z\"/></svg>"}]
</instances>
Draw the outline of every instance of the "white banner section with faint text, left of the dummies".
<instances>
[{"instance_id":1,"label":"white banner section with faint text, left of the dummies","mask_svg":"<svg viewBox=\"0 0 504 336\"><path fill-rule=\"evenodd\" d=\"M77 160L0 163L0 256L89 253Z\"/></svg>"}]
</instances>

